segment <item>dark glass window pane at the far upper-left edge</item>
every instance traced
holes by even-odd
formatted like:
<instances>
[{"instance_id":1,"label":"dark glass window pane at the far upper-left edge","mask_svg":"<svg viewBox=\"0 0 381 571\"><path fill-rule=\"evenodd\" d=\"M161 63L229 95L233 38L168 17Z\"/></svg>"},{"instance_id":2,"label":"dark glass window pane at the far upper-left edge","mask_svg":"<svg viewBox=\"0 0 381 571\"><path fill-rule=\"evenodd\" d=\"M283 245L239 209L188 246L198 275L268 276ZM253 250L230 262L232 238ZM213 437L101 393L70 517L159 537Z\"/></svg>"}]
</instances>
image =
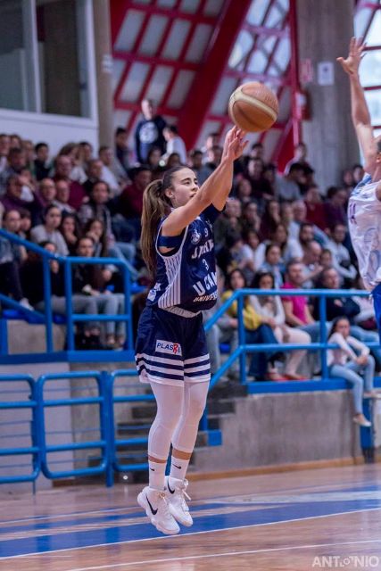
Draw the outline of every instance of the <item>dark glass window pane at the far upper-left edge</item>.
<instances>
[{"instance_id":1,"label":"dark glass window pane at the far upper-left edge","mask_svg":"<svg viewBox=\"0 0 381 571\"><path fill-rule=\"evenodd\" d=\"M33 59L28 46L28 14L21 0L0 2L0 107L35 111Z\"/></svg>"}]
</instances>

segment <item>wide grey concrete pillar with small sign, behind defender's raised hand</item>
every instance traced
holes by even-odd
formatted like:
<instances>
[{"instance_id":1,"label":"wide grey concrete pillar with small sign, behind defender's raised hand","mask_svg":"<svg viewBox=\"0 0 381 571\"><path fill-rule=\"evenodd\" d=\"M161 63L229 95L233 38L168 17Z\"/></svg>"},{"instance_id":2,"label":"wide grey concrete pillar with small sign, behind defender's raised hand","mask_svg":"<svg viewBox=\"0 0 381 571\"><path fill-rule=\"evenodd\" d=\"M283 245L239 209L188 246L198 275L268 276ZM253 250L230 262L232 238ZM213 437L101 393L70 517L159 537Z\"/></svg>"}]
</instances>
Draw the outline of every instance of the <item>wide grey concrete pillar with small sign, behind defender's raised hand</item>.
<instances>
[{"instance_id":1,"label":"wide grey concrete pillar with small sign, behind defender's raised hand","mask_svg":"<svg viewBox=\"0 0 381 571\"><path fill-rule=\"evenodd\" d=\"M353 36L352 0L296 0L299 63L310 59L313 79L306 84L311 97L311 120L302 123L302 140L309 160L324 189L341 181L342 170L359 161L359 147L352 128L349 82L335 62L348 53ZM333 80L319 78L319 63L333 65ZM302 70L300 68L300 70ZM330 85L321 85L326 79Z\"/></svg>"}]
</instances>

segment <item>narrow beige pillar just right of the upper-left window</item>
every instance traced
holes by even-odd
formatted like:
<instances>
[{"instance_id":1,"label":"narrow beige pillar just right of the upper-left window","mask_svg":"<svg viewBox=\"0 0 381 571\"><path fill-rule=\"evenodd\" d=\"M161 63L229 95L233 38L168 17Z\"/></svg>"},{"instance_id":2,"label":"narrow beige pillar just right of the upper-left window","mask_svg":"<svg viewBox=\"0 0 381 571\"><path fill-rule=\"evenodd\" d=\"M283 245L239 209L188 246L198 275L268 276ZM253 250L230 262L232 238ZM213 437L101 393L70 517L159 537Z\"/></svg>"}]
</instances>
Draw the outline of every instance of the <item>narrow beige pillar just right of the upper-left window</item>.
<instances>
[{"instance_id":1,"label":"narrow beige pillar just right of the upper-left window","mask_svg":"<svg viewBox=\"0 0 381 571\"><path fill-rule=\"evenodd\" d=\"M113 146L112 41L109 0L93 0L99 144Z\"/></svg>"}]
</instances>

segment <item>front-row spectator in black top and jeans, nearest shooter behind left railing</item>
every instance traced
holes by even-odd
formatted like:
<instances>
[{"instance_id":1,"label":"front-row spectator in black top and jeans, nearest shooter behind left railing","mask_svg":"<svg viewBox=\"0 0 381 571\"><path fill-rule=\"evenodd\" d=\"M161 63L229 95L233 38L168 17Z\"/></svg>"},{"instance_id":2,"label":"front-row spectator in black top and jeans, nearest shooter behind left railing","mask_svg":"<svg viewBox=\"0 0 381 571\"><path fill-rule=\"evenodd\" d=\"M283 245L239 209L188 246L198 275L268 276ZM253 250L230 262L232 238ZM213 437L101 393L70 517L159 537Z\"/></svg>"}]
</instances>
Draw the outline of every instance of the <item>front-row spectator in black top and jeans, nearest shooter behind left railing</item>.
<instances>
[{"instance_id":1,"label":"front-row spectator in black top and jeans, nearest shooter behind left railing","mask_svg":"<svg viewBox=\"0 0 381 571\"><path fill-rule=\"evenodd\" d=\"M90 237L80 238L77 253L80 257L92 258L94 246ZM107 278L110 278L107 269L103 270L93 264L76 264L73 267L73 292L93 296L99 313L120 315L124 311L124 296L105 290ZM125 324L122 321L106 321L105 333L108 348L114 349L124 344L126 335Z\"/></svg>"}]
</instances>

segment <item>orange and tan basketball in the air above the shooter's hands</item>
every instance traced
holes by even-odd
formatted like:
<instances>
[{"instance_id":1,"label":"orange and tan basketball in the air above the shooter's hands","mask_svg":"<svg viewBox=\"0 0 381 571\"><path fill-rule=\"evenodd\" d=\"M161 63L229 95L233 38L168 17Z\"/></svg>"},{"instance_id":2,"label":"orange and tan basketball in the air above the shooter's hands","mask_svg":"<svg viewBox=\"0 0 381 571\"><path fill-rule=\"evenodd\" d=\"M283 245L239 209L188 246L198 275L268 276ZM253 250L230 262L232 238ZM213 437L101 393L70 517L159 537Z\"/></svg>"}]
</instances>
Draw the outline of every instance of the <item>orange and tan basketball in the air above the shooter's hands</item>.
<instances>
[{"instance_id":1,"label":"orange and tan basketball in the air above the shooter's hands","mask_svg":"<svg viewBox=\"0 0 381 571\"><path fill-rule=\"evenodd\" d=\"M244 131L266 131L277 120L279 103L269 87L258 81L244 83L230 95L228 114Z\"/></svg>"}]
</instances>

